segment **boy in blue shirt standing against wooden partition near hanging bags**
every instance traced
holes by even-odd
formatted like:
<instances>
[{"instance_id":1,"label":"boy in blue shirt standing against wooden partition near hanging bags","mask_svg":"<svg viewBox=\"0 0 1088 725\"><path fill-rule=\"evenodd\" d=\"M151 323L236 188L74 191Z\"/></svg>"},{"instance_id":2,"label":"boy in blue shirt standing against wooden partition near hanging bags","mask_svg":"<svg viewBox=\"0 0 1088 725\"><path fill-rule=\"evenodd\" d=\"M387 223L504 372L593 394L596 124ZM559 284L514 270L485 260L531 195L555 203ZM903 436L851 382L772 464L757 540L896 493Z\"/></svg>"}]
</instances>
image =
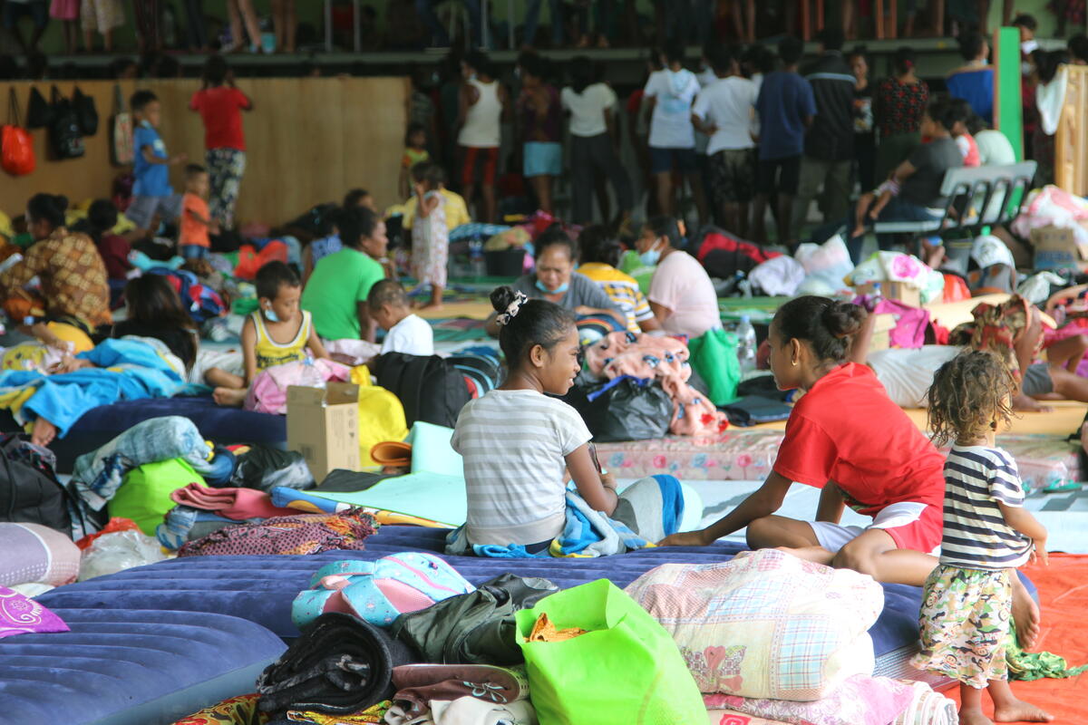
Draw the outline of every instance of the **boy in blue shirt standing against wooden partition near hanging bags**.
<instances>
[{"instance_id":1,"label":"boy in blue shirt standing against wooden partition near hanging bags","mask_svg":"<svg viewBox=\"0 0 1088 725\"><path fill-rule=\"evenodd\" d=\"M136 122L134 141L136 161L133 175L133 200L125 216L139 229L153 232L156 218L173 222L182 208L182 197L170 186L170 166L185 163L185 154L171 159L157 130L161 117L159 99L149 90L137 90L129 102Z\"/></svg>"}]
</instances>

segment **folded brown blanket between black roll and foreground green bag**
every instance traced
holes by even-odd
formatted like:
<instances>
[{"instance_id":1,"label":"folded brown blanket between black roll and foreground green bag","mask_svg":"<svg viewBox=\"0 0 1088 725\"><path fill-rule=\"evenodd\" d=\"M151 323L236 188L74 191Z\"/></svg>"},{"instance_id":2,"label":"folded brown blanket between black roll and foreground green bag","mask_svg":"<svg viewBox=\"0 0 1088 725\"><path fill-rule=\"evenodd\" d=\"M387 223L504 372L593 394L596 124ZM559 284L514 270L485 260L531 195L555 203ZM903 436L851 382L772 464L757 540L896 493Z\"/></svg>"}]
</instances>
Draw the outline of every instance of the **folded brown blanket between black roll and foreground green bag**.
<instances>
[{"instance_id":1,"label":"folded brown blanket between black roll and foreground green bag","mask_svg":"<svg viewBox=\"0 0 1088 725\"><path fill-rule=\"evenodd\" d=\"M432 700L474 697L507 704L529 698L524 667L490 664L408 664L393 671L393 701L408 718L419 717Z\"/></svg>"}]
</instances>

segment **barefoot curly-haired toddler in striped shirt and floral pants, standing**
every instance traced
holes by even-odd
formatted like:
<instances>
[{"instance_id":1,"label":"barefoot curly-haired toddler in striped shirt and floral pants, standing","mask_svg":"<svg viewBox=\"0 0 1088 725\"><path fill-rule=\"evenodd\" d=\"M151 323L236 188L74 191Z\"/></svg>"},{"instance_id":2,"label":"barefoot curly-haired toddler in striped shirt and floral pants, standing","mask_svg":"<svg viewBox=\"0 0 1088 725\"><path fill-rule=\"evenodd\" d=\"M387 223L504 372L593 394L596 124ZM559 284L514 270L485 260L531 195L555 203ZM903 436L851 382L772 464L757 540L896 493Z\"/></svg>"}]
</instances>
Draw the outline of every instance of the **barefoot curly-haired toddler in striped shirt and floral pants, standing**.
<instances>
[{"instance_id":1,"label":"barefoot curly-haired toddler in striped shirt and floral pants, standing","mask_svg":"<svg viewBox=\"0 0 1088 725\"><path fill-rule=\"evenodd\" d=\"M1047 563L1047 529L1024 509L1016 461L993 443L1015 388L1002 362L981 351L944 363L929 388L934 440L954 445L944 464L940 564L926 579L922 651L911 663L960 682L961 725L992 725L984 689L998 722L1053 720L1013 695L1005 663L1016 568Z\"/></svg>"}]
</instances>

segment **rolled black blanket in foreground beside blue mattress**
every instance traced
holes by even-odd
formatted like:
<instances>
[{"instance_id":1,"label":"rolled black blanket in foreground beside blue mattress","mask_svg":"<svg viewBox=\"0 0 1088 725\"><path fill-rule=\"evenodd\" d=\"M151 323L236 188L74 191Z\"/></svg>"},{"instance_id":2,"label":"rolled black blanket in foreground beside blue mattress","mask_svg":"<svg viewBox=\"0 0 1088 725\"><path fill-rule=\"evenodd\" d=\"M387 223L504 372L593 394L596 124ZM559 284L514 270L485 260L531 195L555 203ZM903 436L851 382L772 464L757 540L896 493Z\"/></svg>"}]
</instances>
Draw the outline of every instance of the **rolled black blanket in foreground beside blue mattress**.
<instances>
[{"instance_id":1,"label":"rolled black blanket in foreground beside blue mattress","mask_svg":"<svg viewBox=\"0 0 1088 725\"><path fill-rule=\"evenodd\" d=\"M347 714L394 692L393 668L419 654L350 614L322 614L257 680L264 712Z\"/></svg>"}]
</instances>

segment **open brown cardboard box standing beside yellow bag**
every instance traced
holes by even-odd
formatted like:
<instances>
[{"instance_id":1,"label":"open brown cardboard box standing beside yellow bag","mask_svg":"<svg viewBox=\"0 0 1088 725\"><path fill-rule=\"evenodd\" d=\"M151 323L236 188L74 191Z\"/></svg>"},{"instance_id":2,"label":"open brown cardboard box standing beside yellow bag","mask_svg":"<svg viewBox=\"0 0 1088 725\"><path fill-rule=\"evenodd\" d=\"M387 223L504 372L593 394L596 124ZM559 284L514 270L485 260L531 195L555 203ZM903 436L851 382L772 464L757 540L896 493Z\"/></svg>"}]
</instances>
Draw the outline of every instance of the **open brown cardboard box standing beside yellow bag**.
<instances>
[{"instance_id":1,"label":"open brown cardboard box standing beside yellow bag","mask_svg":"<svg viewBox=\"0 0 1088 725\"><path fill-rule=\"evenodd\" d=\"M319 484L330 471L359 470L359 386L287 388L287 448L298 451Z\"/></svg>"}]
</instances>

